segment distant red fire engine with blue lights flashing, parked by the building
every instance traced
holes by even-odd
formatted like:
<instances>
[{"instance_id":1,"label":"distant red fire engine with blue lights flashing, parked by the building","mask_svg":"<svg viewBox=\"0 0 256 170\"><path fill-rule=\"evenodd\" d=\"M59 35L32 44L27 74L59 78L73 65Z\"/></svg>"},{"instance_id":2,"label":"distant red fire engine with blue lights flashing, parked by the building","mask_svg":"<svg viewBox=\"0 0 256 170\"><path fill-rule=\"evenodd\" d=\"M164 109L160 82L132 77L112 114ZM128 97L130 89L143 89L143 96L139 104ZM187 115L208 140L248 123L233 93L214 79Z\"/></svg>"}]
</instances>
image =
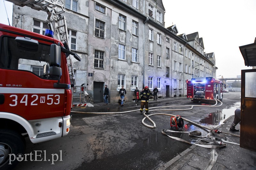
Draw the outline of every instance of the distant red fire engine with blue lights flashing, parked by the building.
<instances>
[{"instance_id":1,"label":"distant red fire engine with blue lights flashing, parked by the building","mask_svg":"<svg viewBox=\"0 0 256 170\"><path fill-rule=\"evenodd\" d=\"M215 103L214 98L222 101L225 84L212 77L197 77L187 80L187 98L192 102Z\"/></svg>"}]
</instances>

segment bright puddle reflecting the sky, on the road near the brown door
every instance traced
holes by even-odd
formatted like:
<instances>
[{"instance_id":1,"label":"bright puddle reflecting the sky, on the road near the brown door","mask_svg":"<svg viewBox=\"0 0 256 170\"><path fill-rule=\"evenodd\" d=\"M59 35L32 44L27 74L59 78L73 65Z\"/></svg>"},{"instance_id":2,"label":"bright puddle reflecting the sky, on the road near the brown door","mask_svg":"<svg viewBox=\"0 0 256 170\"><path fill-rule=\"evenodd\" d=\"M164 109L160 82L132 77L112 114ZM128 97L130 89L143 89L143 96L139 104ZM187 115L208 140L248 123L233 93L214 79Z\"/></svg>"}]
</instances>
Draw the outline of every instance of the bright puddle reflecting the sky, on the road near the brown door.
<instances>
[{"instance_id":1,"label":"bright puddle reflecting the sky, on the road near the brown door","mask_svg":"<svg viewBox=\"0 0 256 170\"><path fill-rule=\"evenodd\" d=\"M236 102L234 106L229 109L218 110L214 113L210 113L208 117L202 119L200 123L210 128L216 128L217 126L223 124L223 122L230 116L235 115L235 110L240 108L240 102Z\"/></svg>"}]
</instances>

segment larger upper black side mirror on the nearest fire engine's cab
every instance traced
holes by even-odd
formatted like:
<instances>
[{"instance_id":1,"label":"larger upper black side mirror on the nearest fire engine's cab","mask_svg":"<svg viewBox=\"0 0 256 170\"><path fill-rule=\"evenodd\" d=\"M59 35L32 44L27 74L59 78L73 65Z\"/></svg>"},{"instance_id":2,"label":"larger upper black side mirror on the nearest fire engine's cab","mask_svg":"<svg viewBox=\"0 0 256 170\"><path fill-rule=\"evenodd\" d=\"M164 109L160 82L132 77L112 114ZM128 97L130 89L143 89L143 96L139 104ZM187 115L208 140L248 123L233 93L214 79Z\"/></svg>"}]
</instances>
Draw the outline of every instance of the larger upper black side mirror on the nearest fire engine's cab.
<instances>
[{"instance_id":1,"label":"larger upper black side mirror on the nearest fire engine's cab","mask_svg":"<svg viewBox=\"0 0 256 170\"><path fill-rule=\"evenodd\" d=\"M60 67L61 49L60 46L52 44L50 48L50 66Z\"/></svg>"}]
</instances>

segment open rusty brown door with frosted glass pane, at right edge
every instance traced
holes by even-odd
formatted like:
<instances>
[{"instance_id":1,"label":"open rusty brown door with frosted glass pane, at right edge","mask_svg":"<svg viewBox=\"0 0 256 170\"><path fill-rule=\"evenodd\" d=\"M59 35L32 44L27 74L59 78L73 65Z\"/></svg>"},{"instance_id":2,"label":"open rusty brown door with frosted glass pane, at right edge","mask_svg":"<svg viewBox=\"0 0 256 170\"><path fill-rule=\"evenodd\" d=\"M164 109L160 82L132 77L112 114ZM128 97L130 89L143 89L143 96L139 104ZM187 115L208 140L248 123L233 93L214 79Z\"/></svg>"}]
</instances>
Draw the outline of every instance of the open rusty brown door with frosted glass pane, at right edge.
<instances>
[{"instance_id":1,"label":"open rusty brown door with frosted glass pane, at right edge","mask_svg":"<svg viewBox=\"0 0 256 170\"><path fill-rule=\"evenodd\" d=\"M242 70L240 147L256 151L256 69Z\"/></svg>"}]
</instances>

